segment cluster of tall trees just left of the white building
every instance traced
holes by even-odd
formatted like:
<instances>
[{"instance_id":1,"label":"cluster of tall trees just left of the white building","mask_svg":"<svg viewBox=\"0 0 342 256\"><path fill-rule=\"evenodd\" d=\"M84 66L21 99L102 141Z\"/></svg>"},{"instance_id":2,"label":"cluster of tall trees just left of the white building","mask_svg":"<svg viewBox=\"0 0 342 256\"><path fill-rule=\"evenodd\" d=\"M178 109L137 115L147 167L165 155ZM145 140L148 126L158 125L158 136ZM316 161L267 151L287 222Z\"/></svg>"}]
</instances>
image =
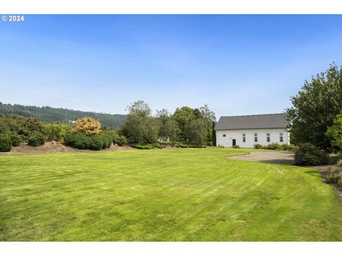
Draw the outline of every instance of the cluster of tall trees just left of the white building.
<instances>
[{"instance_id":1,"label":"cluster of tall trees just left of the white building","mask_svg":"<svg viewBox=\"0 0 342 256\"><path fill-rule=\"evenodd\" d=\"M119 132L130 143L153 144L159 141L212 145L216 117L207 105L195 109L177 107L173 114L162 109L152 115L149 105L140 100L129 105L128 112Z\"/></svg>"}]
</instances>

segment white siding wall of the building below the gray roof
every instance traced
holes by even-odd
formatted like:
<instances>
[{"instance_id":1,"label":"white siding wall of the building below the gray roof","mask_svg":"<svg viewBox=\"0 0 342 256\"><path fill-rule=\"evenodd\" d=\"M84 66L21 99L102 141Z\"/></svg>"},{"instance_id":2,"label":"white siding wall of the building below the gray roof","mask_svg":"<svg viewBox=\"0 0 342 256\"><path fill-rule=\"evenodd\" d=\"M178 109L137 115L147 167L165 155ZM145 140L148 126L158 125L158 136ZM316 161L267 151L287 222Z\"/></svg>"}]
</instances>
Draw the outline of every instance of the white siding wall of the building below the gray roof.
<instances>
[{"instance_id":1,"label":"white siding wall of the building below the gray roof","mask_svg":"<svg viewBox=\"0 0 342 256\"><path fill-rule=\"evenodd\" d=\"M284 142L280 142L280 133L283 133ZM270 142L266 142L266 134L270 134ZM226 134L226 137L223 137ZM242 134L246 134L246 142L242 142ZM254 142L254 134L258 134L258 142ZM263 146L272 142L279 144L290 144L289 132L286 129L234 129L234 130L217 130L216 144L226 147L232 146L232 140L236 139L237 145L245 148L252 148L254 144Z\"/></svg>"}]
</instances>

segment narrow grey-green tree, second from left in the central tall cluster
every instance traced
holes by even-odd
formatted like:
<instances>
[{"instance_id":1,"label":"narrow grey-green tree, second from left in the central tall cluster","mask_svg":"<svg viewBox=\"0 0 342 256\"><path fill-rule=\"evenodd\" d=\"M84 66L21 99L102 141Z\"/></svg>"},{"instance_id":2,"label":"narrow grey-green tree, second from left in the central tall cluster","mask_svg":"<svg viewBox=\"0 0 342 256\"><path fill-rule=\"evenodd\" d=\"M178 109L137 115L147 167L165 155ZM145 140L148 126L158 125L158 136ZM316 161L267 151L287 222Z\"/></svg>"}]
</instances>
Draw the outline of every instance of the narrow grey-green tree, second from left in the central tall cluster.
<instances>
[{"instance_id":1,"label":"narrow grey-green tree, second from left in the central tall cluster","mask_svg":"<svg viewBox=\"0 0 342 256\"><path fill-rule=\"evenodd\" d=\"M177 141L177 122L171 117L167 110L157 110L157 121L159 124L160 139L170 139L171 142Z\"/></svg>"}]
</instances>

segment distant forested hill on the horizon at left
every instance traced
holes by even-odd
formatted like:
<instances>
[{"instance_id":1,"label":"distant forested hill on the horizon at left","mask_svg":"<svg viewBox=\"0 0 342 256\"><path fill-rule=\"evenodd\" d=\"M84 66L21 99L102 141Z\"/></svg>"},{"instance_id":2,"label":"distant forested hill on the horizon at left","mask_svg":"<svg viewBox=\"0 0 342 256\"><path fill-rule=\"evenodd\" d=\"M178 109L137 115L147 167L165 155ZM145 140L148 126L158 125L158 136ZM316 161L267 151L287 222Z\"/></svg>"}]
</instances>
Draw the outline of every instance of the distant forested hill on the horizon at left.
<instances>
[{"instance_id":1,"label":"distant forested hill on the horizon at left","mask_svg":"<svg viewBox=\"0 0 342 256\"><path fill-rule=\"evenodd\" d=\"M24 117L39 117L43 122L61 123L67 123L81 117L93 117L98 119L103 127L112 127L114 129L118 129L126 119L125 114L103 114L54 107L11 105L1 102L0 114L19 114Z\"/></svg>"}]
</instances>

